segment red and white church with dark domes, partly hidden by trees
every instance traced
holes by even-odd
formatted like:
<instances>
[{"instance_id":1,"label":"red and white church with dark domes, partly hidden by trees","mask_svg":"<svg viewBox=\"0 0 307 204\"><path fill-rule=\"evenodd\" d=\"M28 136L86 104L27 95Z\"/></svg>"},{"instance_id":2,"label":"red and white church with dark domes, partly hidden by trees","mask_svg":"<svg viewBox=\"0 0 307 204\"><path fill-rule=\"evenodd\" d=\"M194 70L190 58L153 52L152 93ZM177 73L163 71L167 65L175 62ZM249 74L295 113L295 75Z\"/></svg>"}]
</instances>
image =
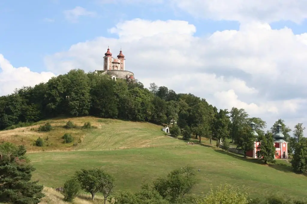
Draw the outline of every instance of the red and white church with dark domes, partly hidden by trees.
<instances>
[{"instance_id":1,"label":"red and white church with dark domes, partly hidden by trees","mask_svg":"<svg viewBox=\"0 0 307 204\"><path fill-rule=\"evenodd\" d=\"M252 122L250 124L253 134L258 137L258 133L256 132L256 124ZM275 159L287 159L288 158L288 142L284 140L285 135L282 134L282 125L278 123L277 131L274 134L274 146L276 149ZM257 158L259 142L254 142L254 148L247 152L248 157Z\"/></svg>"}]
</instances>

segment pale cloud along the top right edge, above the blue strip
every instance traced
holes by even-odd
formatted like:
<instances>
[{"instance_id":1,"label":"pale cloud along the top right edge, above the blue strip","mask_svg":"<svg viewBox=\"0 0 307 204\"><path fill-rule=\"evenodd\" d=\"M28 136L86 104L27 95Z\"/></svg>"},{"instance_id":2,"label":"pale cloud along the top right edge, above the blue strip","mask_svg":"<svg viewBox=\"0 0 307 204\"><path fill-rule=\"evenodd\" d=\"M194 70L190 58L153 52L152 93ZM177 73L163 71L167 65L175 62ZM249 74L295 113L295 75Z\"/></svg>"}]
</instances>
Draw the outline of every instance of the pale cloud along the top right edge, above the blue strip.
<instances>
[{"instance_id":1,"label":"pale cloud along the top right edge, above the blue strip","mask_svg":"<svg viewBox=\"0 0 307 204\"><path fill-rule=\"evenodd\" d=\"M302 0L168 0L192 16L214 20L247 22L293 21L307 18L307 2Z\"/></svg>"}]
</instances>

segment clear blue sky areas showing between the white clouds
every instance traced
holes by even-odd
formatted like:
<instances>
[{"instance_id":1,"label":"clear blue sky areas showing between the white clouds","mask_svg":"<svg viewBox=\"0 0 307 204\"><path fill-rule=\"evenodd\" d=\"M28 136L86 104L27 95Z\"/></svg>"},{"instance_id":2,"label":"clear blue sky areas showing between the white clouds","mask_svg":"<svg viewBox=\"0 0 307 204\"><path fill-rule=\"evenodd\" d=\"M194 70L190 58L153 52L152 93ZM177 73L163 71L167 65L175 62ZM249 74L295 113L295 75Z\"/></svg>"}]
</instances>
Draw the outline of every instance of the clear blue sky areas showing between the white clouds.
<instances>
[{"instance_id":1,"label":"clear blue sky areas showing between the white clouds","mask_svg":"<svg viewBox=\"0 0 307 204\"><path fill-rule=\"evenodd\" d=\"M81 6L95 12L95 17L80 17L77 23L67 21L64 10ZM116 12L114 9L116 8ZM134 18L148 20L185 20L197 28L195 36L216 30L238 29L237 21L212 21L194 18L185 12L174 12L164 4L101 4L94 0L2 0L0 1L0 53L15 67L28 66L45 70L45 55L67 50L72 44L98 36L117 37L107 32L118 22ZM272 28L288 26L294 33L307 30L306 21L271 23Z\"/></svg>"}]
</instances>

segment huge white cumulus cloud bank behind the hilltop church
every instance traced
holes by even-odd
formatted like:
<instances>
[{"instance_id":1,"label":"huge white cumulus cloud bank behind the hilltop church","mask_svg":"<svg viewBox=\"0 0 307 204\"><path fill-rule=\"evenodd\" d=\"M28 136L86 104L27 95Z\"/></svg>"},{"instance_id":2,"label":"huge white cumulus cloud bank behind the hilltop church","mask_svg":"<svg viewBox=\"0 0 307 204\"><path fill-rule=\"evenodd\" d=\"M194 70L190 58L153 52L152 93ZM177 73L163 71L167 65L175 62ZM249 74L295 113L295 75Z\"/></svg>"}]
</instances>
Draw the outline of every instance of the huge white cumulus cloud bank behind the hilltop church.
<instances>
[{"instance_id":1,"label":"huge white cumulus cloud bank behind the hilltop church","mask_svg":"<svg viewBox=\"0 0 307 204\"><path fill-rule=\"evenodd\" d=\"M72 68L102 70L107 46L113 56L122 47L126 70L147 87L156 82L206 98L217 108L245 108L269 126L278 118L304 123L295 117L303 118L307 111L302 112L307 105L307 33L294 35L289 28L274 30L251 21L238 31L196 37L196 27L187 21L141 19L121 22L108 31L118 38L74 44L47 56L46 66L56 74Z\"/></svg>"}]
</instances>

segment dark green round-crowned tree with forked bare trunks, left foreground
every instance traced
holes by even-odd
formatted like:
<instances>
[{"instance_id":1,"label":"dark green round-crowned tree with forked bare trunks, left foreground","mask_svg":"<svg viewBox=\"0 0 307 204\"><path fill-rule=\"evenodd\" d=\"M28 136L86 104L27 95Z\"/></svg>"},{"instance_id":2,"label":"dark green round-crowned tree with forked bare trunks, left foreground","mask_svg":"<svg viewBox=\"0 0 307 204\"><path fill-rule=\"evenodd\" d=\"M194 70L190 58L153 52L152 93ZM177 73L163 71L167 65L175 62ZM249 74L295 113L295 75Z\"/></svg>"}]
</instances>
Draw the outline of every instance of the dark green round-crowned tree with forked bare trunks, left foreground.
<instances>
[{"instance_id":1,"label":"dark green round-crowned tree with forked bare trunks, left foreground","mask_svg":"<svg viewBox=\"0 0 307 204\"><path fill-rule=\"evenodd\" d=\"M95 194L101 192L104 197L104 203L111 195L115 185L114 177L103 169L81 169L75 173L76 179L80 182L81 188L92 195L92 201L95 199Z\"/></svg>"}]
</instances>

